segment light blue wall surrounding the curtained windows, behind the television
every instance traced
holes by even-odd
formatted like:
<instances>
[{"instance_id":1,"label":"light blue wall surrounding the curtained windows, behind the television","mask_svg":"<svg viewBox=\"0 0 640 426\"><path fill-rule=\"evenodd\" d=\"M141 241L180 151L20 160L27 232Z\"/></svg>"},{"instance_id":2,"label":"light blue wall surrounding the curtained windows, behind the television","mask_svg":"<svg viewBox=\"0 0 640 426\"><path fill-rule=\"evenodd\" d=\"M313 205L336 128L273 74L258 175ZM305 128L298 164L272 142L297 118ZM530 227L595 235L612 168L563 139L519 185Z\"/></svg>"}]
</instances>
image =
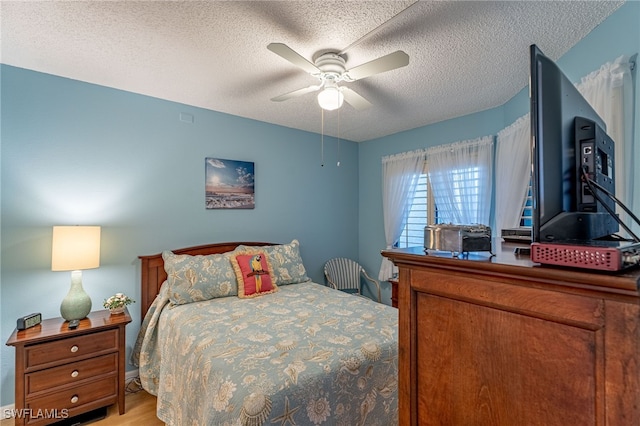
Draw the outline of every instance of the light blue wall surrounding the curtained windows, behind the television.
<instances>
[{"instance_id":1,"label":"light blue wall surrounding the curtained windows, behind the television","mask_svg":"<svg viewBox=\"0 0 640 426\"><path fill-rule=\"evenodd\" d=\"M577 82L602 64L621 55L629 57L640 52L640 2L625 3L606 21L557 62L565 74ZM535 43L535 40L532 40ZM528 46L527 46L528 47ZM525 48L527 48L525 47ZM539 46L545 51L545 46ZM637 61L636 61L637 62ZM635 76L637 76L637 64ZM637 80L637 79L636 79ZM640 167L640 85L635 84L634 147L636 167ZM385 248L382 217L382 157L390 154L428 148L461 140L495 135L519 117L529 112L529 93L525 87L501 107L419 129L371 140L360 144L360 263L377 276L380 269L380 250ZM640 169L630 181L640 179ZM640 211L640 185L635 185L635 212ZM381 283L383 297L390 303L388 283Z\"/></svg>"}]
</instances>

